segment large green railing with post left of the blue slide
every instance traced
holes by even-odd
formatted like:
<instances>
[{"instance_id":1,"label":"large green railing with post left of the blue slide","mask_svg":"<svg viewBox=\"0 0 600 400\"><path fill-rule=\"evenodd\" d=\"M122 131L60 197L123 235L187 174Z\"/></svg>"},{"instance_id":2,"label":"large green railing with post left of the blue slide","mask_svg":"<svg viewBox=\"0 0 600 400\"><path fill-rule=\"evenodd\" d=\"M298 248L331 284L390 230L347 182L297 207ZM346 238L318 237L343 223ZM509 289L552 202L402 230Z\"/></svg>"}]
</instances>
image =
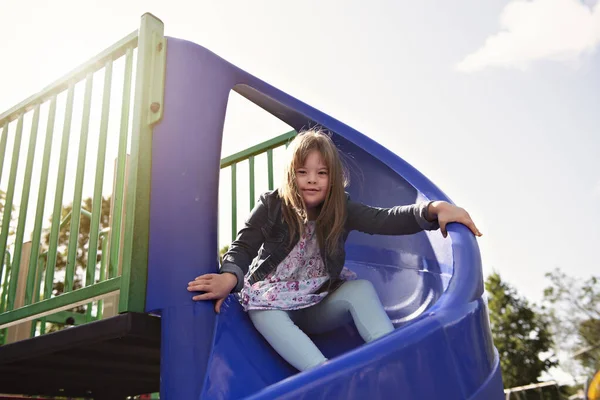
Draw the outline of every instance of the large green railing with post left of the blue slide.
<instances>
[{"instance_id":1,"label":"large green railing with post left of the blue slide","mask_svg":"<svg viewBox=\"0 0 600 400\"><path fill-rule=\"evenodd\" d=\"M160 20L150 14L142 17L140 29L103 51L70 74L54 82L39 94L32 96L7 112L0 115L0 178L6 161L6 147L9 135L13 135L12 157L8 174L8 185L4 199L4 212L1 216L0 229L0 329L27 321L34 321L32 332L35 332L37 321L42 322L42 333L45 322L60 322L72 318L77 323L90 321L92 303L98 303L95 318L102 317L102 299L119 293L119 312L143 311L146 287L146 265L148 246L148 215L150 188L150 161L152 126L162 117L161 104L164 93L164 68L166 60L166 40L164 28ZM137 48L137 50L136 50ZM137 53L136 81L134 101L131 105L132 76L134 53ZM113 87L113 64L123 59L124 73L122 81L122 106L120 130L118 132L118 149L114 176L114 192L112 193L111 226L100 230L102 212L102 191L105 178L104 165L107 154L107 138L109 135L111 89ZM82 211L83 184L88 151L90 116L92 113L93 80L96 73L104 75L102 102L100 110L100 131L98 135L97 154L94 173L94 189L92 210ZM81 113L81 130L78 138L77 162L75 169L75 188L72 199L73 208L67 218L60 220L63 210L67 159L71 149L71 123L75 103L75 87L78 83L85 86ZM52 207L52 220L48 236L48 250L42 253L41 237L46 205L46 192L49 184L50 159L54 128L57 115L57 97L66 96L64 121L60 155L58 157L56 187ZM45 140L41 167L39 168L39 186L37 187L37 204L31 236L31 253L29 263L22 265L22 249L25 237L26 222L30 216L28 205L32 189L32 175L36 160L36 143L40 125L40 109L48 107ZM129 126L130 109L133 108L131 128ZM32 113L32 115L30 114ZM26 159L19 160L21 143L27 135L23 133L24 120L31 116ZM16 123L11 133L12 124ZM129 157L127 143L130 141ZM127 158L129 159L127 161ZM8 166L7 166L8 167ZM127 169L127 185L125 176ZM22 176L17 181L18 171ZM38 170L36 169L36 172ZM126 190L125 190L126 187ZM36 188L33 188L34 190ZM20 190L18 222L14 236L14 246L9 248L9 228L13 217L15 192ZM48 199L49 200L49 199ZM74 290L77 270L78 237L81 216L90 218L90 236L88 243L85 280L83 287ZM55 283L55 269L59 247L59 235L62 227L69 225L67 247L67 263L64 277L64 292L52 296ZM121 227L125 225L122 230ZM98 266L98 243L102 256ZM123 243L121 247L121 243ZM122 250L121 250L122 249ZM134 251L135 249L135 251ZM12 254L12 259L11 259ZM121 273L119 274L119 266ZM27 268L25 282L19 282L19 270ZM99 268L99 271L98 271ZM100 279L96 281L99 272ZM25 271L23 271L23 274ZM43 290L42 290L43 283ZM17 288L24 285L24 306L15 307ZM86 314L70 313L65 310L80 305L88 305ZM4 335L6 336L6 335Z\"/></svg>"}]
</instances>

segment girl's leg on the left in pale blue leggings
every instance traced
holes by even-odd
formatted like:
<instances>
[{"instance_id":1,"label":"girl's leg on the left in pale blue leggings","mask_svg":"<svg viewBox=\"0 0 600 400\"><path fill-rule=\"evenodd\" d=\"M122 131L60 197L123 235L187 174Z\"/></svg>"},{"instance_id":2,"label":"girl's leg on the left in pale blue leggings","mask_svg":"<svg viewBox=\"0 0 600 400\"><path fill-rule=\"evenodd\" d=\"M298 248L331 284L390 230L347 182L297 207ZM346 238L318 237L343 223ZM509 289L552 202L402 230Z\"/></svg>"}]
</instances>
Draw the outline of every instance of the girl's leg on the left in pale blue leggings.
<instances>
[{"instance_id":1,"label":"girl's leg on the left in pale blue leggings","mask_svg":"<svg viewBox=\"0 0 600 400\"><path fill-rule=\"evenodd\" d=\"M286 311L250 310L248 315L267 342L296 369L304 371L327 361Z\"/></svg>"}]
</instances>

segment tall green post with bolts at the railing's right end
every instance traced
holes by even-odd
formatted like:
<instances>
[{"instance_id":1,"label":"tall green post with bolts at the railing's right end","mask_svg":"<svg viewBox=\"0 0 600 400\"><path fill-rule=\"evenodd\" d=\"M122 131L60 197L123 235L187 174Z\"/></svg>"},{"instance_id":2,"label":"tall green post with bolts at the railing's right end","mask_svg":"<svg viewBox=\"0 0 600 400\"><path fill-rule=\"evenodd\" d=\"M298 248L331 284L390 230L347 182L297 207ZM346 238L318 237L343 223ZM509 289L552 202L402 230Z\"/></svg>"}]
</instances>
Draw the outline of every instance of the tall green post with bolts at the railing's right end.
<instances>
[{"instance_id":1,"label":"tall green post with bolts at the railing's right end","mask_svg":"<svg viewBox=\"0 0 600 400\"><path fill-rule=\"evenodd\" d=\"M152 125L160 120L164 109L166 50L162 21L144 14L138 38L120 312L143 312L146 301Z\"/></svg>"}]
</instances>

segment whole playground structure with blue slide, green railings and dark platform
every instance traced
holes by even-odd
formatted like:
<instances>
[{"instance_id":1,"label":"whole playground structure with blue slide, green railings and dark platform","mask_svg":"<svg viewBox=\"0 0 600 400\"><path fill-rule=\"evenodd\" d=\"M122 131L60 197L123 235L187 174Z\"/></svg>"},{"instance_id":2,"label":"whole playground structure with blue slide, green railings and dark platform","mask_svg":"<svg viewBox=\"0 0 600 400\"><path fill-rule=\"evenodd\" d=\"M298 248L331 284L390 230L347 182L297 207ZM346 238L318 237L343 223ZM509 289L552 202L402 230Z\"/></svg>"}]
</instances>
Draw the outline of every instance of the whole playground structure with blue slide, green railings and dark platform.
<instances>
[{"instance_id":1,"label":"whole playground structure with blue slide, green railings and dark platform","mask_svg":"<svg viewBox=\"0 0 600 400\"><path fill-rule=\"evenodd\" d=\"M346 244L347 267L373 282L397 329L366 345L352 326L315 336L330 361L303 373L269 347L234 296L218 316L210 302L191 300L187 282L218 270L220 168L231 172L235 232L236 166L249 165L252 205L258 195L254 193L255 158L266 154L269 188L273 188L273 150L285 146L303 128L326 128L338 148L360 166L360 171L352 171L348 188L354 200L382 207L450 200L367 136L201 46L166 38L163 32L162 22L145 14L139 30L0 115L0 168L5 167L7 143L13 146L0 236L0 329L7 342L0 347L0 393L118 399L160 390L162 399L177 400L503 398L479 250L474 236L458 224L448 227L447 239L440 232L404 237L353 232ZM118 156L110 223L100 229L117 62L124 66ZM86 214L79 205L89 161L93 78L98 73L104 76L101 122L92 210ZM85 92L74 207L68 218L61 218L78 83ZM232 90L294 131L221 160ZM46 201L51 201L46 192L59 96L66 105L60 155L55 156L54 218L44 250L43 218ZM47 129L36 170L40 176L34 192L37 207L28 212L41 107L48 108ZM25 118L32 122L23 163L19 158ZM0 170L4 181L2 176ZM9 246L17 188L21 189L18 222L14 245ZM75 287L78 248L72 240L66 251L64 293L54 295L54 284L62 279L62 272L55 271L59 236L68 224L69 237L78 237L82 216L90 221L82 287ZM24 242L30 218L32 238ZM85 312L69 311L76 307L84 307ZM44 334L48 322L74 327Z\"/></svg>"}]
</instances>

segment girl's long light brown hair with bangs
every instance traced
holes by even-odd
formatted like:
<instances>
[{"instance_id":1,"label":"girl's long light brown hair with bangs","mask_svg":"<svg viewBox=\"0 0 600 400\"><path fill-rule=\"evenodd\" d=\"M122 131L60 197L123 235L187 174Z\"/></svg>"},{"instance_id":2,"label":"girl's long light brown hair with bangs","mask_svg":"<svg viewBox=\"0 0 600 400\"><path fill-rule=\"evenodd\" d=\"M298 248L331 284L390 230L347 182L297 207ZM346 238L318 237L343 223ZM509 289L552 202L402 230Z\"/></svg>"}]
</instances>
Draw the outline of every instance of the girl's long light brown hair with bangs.
<instances>
[{"instance_id":1,"label":"girl's long light brown hair with bangs","mask_svg":"<svg viewBox=\"0 0 600 400\"><path fill-rule=\"evenodd\" d=\"M282 213L290 231L290 240L295 234L304 233L308 221L306 205L296 184L296 170L304 166L306 158L316 150L327 166L329 188L325 201L320 206L316 220L317 240L320 248L328 254L340 250L340 237L346 222L346 193L348 173L338 149L325 131L313 128L299 133L288 147L288 163L283 173L283 182L279 190L282 199Z\"/></svg>"}]
</instances>

